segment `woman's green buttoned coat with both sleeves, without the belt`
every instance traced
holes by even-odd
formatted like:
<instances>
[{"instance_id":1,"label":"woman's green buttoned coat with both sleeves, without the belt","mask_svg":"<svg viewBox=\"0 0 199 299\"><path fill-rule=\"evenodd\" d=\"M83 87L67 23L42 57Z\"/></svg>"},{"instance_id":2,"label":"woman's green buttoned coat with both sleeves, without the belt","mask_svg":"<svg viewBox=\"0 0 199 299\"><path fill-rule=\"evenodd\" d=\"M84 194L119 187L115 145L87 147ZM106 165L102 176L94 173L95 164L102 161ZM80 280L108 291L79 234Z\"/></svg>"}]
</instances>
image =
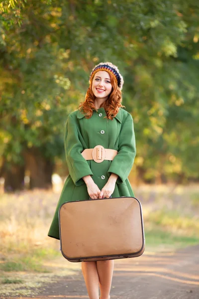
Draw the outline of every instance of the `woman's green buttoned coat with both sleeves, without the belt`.
<instances>
[{"instance_id":1,"label":"woman's green buttoned coat with both sleeves, without the belt","mask_svg":"<svg viewBox=\"0 0 199 299\"><path fill-rule=\"evenodd\" d=\"M86 119L79 110L71 113L67 119L64 146L70 174L64 183L48 232L49 237L59 239L58 211L64 202L89 199L87 186L82 179L85 175L90 174L101 190L111 172L116 173L118 178L111 196L134 196L128 180L136 154L132 116L122 108L113 120L104 119L105 116L104 109L100 108L98 112L94 111L90 119ZM81 152L97 145L105 149L116 149L118 153L112 161L97 163L86 160Z\"/></svg>"}]
</instances>

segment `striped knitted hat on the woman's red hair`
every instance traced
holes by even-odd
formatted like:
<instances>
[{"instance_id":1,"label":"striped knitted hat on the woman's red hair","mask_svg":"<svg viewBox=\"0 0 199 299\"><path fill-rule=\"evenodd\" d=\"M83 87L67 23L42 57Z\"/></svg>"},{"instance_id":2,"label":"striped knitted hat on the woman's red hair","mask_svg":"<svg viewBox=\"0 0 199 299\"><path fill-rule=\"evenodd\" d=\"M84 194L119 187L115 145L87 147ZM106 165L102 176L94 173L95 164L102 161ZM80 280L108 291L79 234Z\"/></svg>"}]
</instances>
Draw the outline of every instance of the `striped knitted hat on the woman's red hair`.
<instances>
[{"instance_id":1,"label":"striped knitted hat on the woman's red hair","mask_svg":"<svg viewBox=\"0 0 199 299\"><path fill-rule=\"evenodd\" d=\"M91 83L91 80L93 76L98 72L98 71L106 71L110 74L113 75L115 82L117 83L117 86L122 89L124 80L122 75L119 73L119 70L116 65L112 64L111 62L100 62L97 64L93 71L91 72L90 78L89 78L89 83Z\"/></svg>"}]
</instances>

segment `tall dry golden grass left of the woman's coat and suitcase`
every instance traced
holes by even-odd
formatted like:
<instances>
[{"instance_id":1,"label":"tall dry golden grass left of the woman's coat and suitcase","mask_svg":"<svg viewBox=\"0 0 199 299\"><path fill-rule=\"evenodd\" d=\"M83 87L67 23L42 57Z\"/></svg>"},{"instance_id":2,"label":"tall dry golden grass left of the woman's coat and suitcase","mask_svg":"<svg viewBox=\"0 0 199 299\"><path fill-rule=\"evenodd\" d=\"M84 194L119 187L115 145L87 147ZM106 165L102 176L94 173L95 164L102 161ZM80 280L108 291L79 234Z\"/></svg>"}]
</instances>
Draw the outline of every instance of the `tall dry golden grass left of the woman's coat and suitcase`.
<instances>
[{"instance_id":1,"label":"tall dry golden grass left of the woman's coat and suitcase","mask_svg":"<svg viewBox=\"0 0 199 299\"><path fill-rule=\"evenodd\" d=\"M57 249L58 242L47 233L58 199L58 193L42 190L1 195L1 254L25 254L49 246Z\"/></svg>"}]
</instances>

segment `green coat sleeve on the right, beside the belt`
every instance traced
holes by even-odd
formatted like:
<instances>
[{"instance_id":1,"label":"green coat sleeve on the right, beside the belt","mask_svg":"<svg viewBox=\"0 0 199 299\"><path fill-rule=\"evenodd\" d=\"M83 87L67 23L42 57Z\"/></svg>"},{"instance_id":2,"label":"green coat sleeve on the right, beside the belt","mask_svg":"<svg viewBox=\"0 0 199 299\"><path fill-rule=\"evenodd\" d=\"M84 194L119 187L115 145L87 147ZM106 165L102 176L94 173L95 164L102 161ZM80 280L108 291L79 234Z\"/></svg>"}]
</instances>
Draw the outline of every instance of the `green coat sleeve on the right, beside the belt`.
<instances>
[{"instance_id":1,"label":"green coat sleeve on the right, beside the belt","mask_svg":"<svg viewBox=\"0 0 199 299\"><path fill-rule=\"evenodd\" d=\"M121 128L118 142L118 153L112 160L108 169L109 173L115 173L119 177L117 183L124 183L133 166L136 155L135 133L133 119L129 114Z\"/></svg>"}]
</instances>

